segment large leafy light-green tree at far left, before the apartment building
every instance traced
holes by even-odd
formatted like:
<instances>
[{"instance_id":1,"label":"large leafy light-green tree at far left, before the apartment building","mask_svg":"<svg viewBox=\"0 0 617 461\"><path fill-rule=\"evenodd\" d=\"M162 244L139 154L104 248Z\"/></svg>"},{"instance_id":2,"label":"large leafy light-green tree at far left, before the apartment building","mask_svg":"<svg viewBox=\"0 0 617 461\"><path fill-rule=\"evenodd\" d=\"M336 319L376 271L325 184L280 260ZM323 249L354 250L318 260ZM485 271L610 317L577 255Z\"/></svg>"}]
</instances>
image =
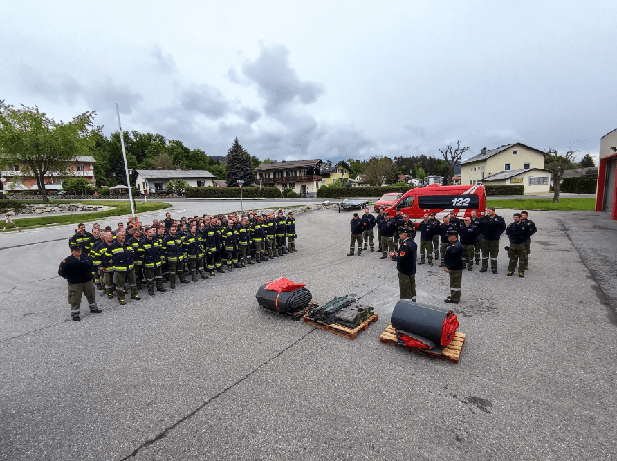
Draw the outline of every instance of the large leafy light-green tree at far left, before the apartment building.
<instances>
[{"instance_id":1,"label":"large leafy light-green tree at far left, before the apartment building","mask_svg":"<svg viewBox=\"0 0 617 461\"><path fill-rule=\"evenodd\" d=\"M95 111L84 112L71 122L55 122L37 106L21 109L0 100L0 167L19 165L23 176L34 176L46 202L44 178L67 173L75 157L91 150Z\"/></svg>"}]
</instances>

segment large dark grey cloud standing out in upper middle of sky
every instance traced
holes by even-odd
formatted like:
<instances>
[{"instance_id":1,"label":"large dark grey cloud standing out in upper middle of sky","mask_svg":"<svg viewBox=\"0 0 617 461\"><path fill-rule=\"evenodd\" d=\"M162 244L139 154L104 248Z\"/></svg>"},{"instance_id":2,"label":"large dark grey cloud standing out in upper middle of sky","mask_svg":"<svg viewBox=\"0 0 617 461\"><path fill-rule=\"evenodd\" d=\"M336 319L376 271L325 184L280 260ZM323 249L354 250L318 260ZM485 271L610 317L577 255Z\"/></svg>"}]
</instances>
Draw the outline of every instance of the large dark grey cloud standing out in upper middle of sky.
<instances>
[{"instance_id":1,"label":"large dark grey cloud standing out in upper middle of sky","mask_svg":"<svg viewBox=\"0 0 617 461\"><path fill-rule=\"evenodd\" d=\"M302 104L315 102L324 91L321 84L301 82L289 65L288 56L289 50L282 45L262 44L257 59L242 66L244 75L257 84L257 93L266 101L268 114L277 113L294 100Z\"/></svg>"}]
</instances>

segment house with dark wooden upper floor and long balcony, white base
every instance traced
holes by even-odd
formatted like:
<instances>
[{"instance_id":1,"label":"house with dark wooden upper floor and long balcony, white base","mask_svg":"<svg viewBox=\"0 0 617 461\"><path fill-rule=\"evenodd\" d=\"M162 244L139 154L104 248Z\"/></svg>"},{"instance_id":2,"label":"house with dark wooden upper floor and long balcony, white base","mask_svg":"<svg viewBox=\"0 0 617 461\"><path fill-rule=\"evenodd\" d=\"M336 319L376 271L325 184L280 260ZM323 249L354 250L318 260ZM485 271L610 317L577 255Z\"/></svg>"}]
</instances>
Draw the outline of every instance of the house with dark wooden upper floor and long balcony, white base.
<instances>
[{"instance_id":1,"label":"house with dark wooden upper floor and long balcony, white base","mask_svg":"<svg viewBox=\"0 0 617 461\"><path fill-rule=\"evenodd\" d=\"M257 183L278 189L292 189L298 196L316 197L322 185L321 159L264 163L255 168Z\"/></svg>"}]
</instances>

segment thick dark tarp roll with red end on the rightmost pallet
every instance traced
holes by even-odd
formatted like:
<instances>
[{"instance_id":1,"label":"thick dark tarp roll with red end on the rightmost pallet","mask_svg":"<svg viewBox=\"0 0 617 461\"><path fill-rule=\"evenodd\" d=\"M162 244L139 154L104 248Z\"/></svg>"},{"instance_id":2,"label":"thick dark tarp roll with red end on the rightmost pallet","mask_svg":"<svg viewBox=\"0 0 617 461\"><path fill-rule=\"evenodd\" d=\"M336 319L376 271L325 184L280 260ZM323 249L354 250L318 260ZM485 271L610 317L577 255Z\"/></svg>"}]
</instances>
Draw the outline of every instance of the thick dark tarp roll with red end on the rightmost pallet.
<instances>
[{"instance_id":1,"label":"thick dark tarp roll with red end on the rightmost pallet","mask_svg":"<svg viewBox=\"0 0 617 461\"><path fill-rule=\"evenodd\" d=\"M399 342L400 335L407 335L436 352L450 344L459 326L457 316L449 308L414 303L409 299L396 303L391 323Z\"/></svg>"}]
</instances>

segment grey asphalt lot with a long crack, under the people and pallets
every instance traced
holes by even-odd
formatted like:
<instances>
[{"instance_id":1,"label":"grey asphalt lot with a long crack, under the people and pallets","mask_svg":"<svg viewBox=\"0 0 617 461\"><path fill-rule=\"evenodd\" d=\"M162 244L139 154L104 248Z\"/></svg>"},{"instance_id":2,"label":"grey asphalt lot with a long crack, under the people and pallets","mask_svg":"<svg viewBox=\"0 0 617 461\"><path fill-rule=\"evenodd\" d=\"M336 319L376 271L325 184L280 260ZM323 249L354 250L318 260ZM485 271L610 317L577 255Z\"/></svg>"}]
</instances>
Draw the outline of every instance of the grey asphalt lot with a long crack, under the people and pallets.
<instances>
[{"instance_id":1,"label":"grey asphalt lot with a long crack, under the people and pallets","mask_svg":"<svg viewBox=\"0 0 617 461\"><path fill-rule=\"evenodd\" d=\"M378 341L396 267L345 256L351 216L302 214L300 252L122 307L99 298L104 312L80 323L57 276L71 229L3 238L0 459L617 457L615 223L531 212L524 279L506 277L503 250L499 275L463 274L467 341L450 364ZM380 319L349 341L259 310L257 288L278 276ZM419 266L416 285L443 305L439 267Z\"/></svg>"}]
</instances>

